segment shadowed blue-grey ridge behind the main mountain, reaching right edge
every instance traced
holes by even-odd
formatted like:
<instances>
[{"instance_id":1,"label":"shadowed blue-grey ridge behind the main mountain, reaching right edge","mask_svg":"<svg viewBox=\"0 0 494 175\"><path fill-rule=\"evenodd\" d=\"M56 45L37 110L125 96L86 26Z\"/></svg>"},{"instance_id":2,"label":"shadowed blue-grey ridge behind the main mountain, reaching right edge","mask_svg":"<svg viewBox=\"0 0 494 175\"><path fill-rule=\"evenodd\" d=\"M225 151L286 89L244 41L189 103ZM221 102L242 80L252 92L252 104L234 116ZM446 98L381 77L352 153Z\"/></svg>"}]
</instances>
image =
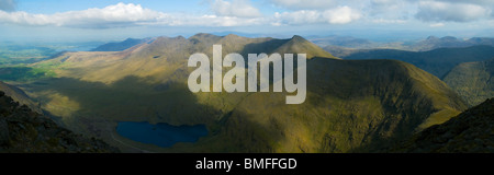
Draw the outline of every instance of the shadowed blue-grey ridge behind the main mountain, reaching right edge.
<instances>
[{"instance_id":1,"label":"shadowed blue-grey ridge behind the main mountain, reaching right edge","mask_svg":"<svg viewBox=\"0 0 494 175\"><path fill-rule=\"evenodd\" d=\"M494 47L471 46L465 48L439 48L430 51L404 51L395 49L358 50L344 59L394 59L415 65L438 78L444 78L452 68L463 62L494 58Z\"/></svg>"}]
</instances>

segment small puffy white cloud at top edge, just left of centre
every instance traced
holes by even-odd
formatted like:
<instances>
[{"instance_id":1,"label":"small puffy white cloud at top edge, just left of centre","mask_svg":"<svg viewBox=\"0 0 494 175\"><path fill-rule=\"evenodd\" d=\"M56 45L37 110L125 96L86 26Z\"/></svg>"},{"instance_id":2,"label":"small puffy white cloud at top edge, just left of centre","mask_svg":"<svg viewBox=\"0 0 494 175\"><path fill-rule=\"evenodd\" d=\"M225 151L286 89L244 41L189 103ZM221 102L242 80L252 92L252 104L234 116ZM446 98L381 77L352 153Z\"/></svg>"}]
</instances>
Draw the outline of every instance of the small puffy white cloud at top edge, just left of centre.
<instances>
[{"instance_id":1,"label":"small puffy white cloud at top edge, just left of centre","mask_svg":"<svg viewBox=\"0 0 494 175\"><path fill-rule=\"evenodd\" d=\"M236 16L236 18L259 18L261 13L258 9L254 8L246 0L215 0L212 5L212 10L216 15L221 16Z\"/></svg>"}]
</instances>

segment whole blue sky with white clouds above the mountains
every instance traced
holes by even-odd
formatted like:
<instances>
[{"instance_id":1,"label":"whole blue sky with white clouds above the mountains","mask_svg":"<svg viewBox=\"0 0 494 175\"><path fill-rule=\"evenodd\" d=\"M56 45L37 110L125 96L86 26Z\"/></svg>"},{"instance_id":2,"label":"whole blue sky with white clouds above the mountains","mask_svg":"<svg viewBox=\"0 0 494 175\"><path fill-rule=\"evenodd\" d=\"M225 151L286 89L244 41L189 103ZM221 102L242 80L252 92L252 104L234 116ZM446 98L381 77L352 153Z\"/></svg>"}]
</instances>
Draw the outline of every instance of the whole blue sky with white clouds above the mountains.
<instances>
[{"instance_id":1,"label":"whole blue sky with white clouds above the mountains","mask_svg":"<svg viewBox=\"0 0 494 175\"><path fill-rule=\"evenodd\" d=\"M0 0L0 40L494 37L494 0Z\"/></svg>"}]
</instances>

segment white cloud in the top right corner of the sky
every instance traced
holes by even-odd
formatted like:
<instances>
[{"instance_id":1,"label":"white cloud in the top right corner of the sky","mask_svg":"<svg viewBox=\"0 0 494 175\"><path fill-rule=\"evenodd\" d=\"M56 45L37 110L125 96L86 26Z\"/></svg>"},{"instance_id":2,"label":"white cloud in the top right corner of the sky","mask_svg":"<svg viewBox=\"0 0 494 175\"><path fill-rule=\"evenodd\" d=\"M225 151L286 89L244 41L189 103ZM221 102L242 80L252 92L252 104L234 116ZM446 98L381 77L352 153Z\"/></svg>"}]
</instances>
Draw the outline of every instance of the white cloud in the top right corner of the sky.
<instances>
[{"instance_id":1,"label":"white cloud in the top right corner of the sky","mask_svg":"<svg viewBox=\"0 0 494 175\"><path fill-rule=\"evenodd\" d=\"M426 22L470 22L489 18L491 12L492 10L487 7L473 3L420 1L418 3L418 12L415 16Z\"/></svg>"}]
</instances>

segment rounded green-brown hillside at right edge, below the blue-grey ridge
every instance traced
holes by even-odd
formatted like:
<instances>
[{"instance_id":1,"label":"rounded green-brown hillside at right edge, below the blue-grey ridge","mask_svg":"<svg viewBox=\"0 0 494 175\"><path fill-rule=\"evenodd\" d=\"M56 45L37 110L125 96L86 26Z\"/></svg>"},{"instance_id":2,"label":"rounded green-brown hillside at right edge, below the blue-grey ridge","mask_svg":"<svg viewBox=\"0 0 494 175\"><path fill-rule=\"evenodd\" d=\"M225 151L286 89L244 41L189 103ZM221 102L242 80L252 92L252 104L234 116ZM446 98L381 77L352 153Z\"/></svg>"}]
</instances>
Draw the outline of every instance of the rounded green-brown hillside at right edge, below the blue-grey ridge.
<instances>
[{"instance_id":1,"label":"rounded green-brown hillside at right edge, below the blue-grey ridge","mask_svg":"<svg viewBox=\"0 0 494 175\"><path fill-rule=\"evenodd\" d=\"M494 59L454 67L444 81L471 106L494 97Z\"/></svg>"}]
</instances>

